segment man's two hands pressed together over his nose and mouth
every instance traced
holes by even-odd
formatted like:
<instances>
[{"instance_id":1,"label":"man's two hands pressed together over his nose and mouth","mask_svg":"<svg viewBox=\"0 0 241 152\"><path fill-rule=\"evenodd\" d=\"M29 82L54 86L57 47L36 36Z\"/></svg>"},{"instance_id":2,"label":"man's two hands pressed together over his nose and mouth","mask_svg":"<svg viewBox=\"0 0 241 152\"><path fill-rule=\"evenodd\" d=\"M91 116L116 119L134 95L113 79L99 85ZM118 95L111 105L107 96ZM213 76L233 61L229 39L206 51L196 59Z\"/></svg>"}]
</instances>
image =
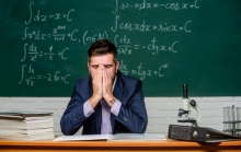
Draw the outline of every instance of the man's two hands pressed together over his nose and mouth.
<instances>
[{"instance_id":1,"label":"man's two hands pressed together over his nose and mouth","mask_svg":"<svg viewBox=\"0 0 241 152\"><path fill-rule=\"evenodd\" d=\"M96 73L93 75L92 85L93 95L90 98L92 108L96 106L101 98L104 98L112 106L113 103L110 103L110 101L115 100L112 93L113 79L103 65L99 66Z\"/></svg>"}]
</instances>

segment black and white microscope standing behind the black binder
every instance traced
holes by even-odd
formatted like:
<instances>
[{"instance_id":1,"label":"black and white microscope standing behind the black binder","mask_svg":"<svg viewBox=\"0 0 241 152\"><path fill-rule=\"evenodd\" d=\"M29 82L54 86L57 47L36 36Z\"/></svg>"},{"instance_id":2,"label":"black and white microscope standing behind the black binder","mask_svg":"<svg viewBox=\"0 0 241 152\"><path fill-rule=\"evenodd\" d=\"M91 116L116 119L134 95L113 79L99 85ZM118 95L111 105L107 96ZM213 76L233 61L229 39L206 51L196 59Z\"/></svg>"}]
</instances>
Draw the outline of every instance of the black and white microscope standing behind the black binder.
<instances>
[{"instance_id":1,"label":"black and white microscope standing behind the black binder","mask_svg":"<svg viewBox=\"0 0 241 152\"><path fill-rule=\"evenodd\" d=\"M200 110L194 100L188 98L188 93L187 93L187 84L183 84L183 108L179 109L179 117L182 117L183 115L185 116L185 119L180 119L177 122L191 122L191 126L197 127L198 124L200 122ZM195 109L197 112L197 120L194 118L191 118L191 108Z\"/></svg>"}]
</instances>

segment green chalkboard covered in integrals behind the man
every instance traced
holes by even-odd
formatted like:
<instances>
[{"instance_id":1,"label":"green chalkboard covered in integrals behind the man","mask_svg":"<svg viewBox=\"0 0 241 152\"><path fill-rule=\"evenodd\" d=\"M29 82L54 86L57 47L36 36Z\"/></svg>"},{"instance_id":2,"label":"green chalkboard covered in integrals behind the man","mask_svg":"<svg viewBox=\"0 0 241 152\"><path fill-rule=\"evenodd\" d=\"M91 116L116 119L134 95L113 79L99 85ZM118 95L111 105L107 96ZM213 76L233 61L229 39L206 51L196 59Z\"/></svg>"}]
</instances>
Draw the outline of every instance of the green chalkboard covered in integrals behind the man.
<instances>
[{"instance_id":1,"label":"green chalkboard covered in integrals behind the man","mask_svg":"<svg viewBox=\"0 0 241 152\"><path fill-rule=\"evenodd\" d=\"M1 0L0 96L70 96L87 49L118 48L145 96L241 95L240 0Z\"/></svg>"}]
</instances>

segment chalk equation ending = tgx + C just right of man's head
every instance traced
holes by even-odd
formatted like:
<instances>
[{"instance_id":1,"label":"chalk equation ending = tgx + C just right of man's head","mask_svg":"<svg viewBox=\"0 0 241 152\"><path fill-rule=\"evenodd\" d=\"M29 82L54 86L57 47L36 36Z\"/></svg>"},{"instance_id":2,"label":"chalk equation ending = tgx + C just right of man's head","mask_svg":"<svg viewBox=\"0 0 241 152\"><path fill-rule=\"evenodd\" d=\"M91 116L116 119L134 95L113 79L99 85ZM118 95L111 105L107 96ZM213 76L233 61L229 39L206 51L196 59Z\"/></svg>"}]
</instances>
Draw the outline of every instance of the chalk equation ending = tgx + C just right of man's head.
<instances>
[{"instance_id":1,"label":"chalk equation ending = tgx + C just right of man's head","mask_svg":"<svg viewBox=\"0 0 241 152\"><path fill-rule=\"evenodd\" d=\"M137 69L131 69L128 70L127 66L124 65L124 61L120 60L119 62L119 71L122 71L125 75L128 74L133 74L135 77L139 77L140 80L145 80L147 77L159 77L159 78L163 78L164 77L164 70L167 70L169 68L168 63L161 65L159 68L157 68L156 70L151 70L151 69L145 69L145 67L142 66L142 62L139 63L139 66L137 66Z\"/></svg>"}]
</instances>

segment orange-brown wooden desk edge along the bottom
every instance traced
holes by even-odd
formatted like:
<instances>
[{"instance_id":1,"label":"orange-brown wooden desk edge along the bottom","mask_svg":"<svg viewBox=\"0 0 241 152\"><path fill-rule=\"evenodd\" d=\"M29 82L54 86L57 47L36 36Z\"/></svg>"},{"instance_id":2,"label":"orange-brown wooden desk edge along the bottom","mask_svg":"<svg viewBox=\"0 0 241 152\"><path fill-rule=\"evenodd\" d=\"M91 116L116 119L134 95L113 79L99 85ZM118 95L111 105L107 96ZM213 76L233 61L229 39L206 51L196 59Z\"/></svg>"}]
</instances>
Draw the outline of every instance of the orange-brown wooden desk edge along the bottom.
<instances>
[{"instance_id":1,"label":"orange-brown wooden desk edge along the bottom","mask_svg":"<svg viewBox=\"0 0 241 152\"><path fill-rule=\"evenodd\" d=\"M188 141L13 141L0 140L0 152L241 152L241 140L220 143Z\"/></svg>"}]
</instances>

